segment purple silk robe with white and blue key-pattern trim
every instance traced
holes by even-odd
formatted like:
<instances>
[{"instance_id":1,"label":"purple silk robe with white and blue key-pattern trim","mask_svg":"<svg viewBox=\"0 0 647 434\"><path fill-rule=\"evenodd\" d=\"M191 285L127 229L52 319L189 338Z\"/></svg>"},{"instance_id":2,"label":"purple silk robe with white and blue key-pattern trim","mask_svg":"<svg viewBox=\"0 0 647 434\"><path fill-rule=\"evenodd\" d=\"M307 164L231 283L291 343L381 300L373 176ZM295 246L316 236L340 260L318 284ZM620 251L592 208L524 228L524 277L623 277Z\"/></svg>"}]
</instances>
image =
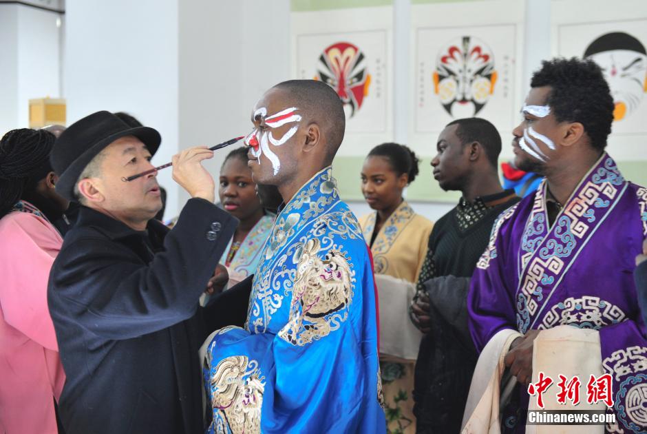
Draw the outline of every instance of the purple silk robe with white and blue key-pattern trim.
<instances>
[{"instance_id":1,"label":"purple silk robe with white and blue key-pattern trim","mask_svg":"<svg viewBox=\"0 0 647 434\"><path fill-rule=\"evenodd\" d=\"M597 329L617 415L617 425L606 428L647 432L647 329L633 281L646 237L647 189L624 180L608 154L584 176L552 226L542 182L501 214L478 261L467 299L476 348L482 351L502 329ZM523 393L518 406L527 409ZM586 400L586 379L582 396ZM503 422L514 429L516 421ZM523 431L517 425L515 431Z\"/></svg>"}]
</instances>

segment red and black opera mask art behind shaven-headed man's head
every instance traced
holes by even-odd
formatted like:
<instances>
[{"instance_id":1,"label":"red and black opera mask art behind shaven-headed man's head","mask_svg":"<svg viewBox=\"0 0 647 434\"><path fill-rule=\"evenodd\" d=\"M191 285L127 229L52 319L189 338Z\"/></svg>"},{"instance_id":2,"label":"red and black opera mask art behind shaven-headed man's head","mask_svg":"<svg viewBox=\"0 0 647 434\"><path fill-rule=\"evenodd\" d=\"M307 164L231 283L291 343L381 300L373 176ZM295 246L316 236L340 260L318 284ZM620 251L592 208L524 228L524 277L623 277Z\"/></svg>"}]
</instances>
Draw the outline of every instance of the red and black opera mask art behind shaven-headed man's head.
<instances>
[{"instance_id":1,"label":"red and black opera mask art behind shaven-headed man's head","mask_svg":"<svg viewBox=\"0 0 647 434\"><path fill-rule=\"evenodd\" d=\"M368 96L371 76L366 70L363 52L352 43L337 42L319 56L315 80L335 89L343 102L346 117L352 117Z\"/></svg>"}]
</instances>

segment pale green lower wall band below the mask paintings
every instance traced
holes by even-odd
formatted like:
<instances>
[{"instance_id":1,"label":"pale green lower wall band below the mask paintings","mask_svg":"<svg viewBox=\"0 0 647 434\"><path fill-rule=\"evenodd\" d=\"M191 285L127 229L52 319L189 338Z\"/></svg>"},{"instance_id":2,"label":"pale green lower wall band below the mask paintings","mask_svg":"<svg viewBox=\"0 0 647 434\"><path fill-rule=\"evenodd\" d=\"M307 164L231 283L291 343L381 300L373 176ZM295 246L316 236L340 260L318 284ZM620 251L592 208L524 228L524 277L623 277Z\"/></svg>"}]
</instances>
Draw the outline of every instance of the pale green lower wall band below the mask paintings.
<instances>
[{"instance_id":1,"label":"pale green lower wall band below the mask paintings","mask_svg":"<svg viewBox=\"0 0 647 434\"><path fill-rule=\"evenodd\" d=\"M407 200L422 202L456 203L460 198L458 192L444 192L432 175L429 164L431 157L423 157L420 162L420 174L407 188ZM332 174L337 179L339 193L344 200L363 200L361 194L361 167L364 157L340 156L335 158ZM638 185L647 186L647 161L618 161L620 172L627 180Z\"/></svg>"}]
</instances>

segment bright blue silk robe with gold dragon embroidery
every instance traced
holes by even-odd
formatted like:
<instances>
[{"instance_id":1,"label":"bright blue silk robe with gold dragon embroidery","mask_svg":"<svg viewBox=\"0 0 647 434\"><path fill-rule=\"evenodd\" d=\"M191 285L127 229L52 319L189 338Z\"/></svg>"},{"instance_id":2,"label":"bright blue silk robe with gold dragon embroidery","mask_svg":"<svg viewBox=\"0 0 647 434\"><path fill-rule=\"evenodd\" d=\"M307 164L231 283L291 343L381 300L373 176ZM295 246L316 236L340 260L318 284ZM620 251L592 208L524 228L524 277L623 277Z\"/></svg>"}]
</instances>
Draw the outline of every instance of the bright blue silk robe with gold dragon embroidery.
<instances>
[{"instance_id":1,"label":"bright blue silk robe with gold dragon embroidery","mask_svg":"<svg viewBox=\"0 0 647 434\"><path fill-rule=\"evenodd\" d=\"M331 172L279 212L245 328L207 347L209 433L385 432L370 254Z\"/></svg>"}]
</instances>

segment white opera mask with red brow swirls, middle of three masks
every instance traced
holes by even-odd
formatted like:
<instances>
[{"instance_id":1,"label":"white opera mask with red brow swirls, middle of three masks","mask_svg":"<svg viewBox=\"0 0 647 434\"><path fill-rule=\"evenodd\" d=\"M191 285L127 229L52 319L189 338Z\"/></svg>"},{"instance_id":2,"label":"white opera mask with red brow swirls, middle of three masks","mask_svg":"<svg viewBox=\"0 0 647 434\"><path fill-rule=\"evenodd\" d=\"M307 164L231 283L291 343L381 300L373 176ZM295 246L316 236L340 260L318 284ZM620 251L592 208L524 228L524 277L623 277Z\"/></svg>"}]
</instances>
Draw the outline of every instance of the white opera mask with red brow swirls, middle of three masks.
<instances>
[{"instance_id":1,"label":"white opera mask with red brow swirls, middle of three masks","mask_svg":"<svg viewBox=\"0 0 647 434\"><path fill-rule=\"evenodd\" d=\"M459 37L436 58L434 93L453 118L475 116L494 93L494 54L480 39Z\"/></svg>"}]
</instances>

